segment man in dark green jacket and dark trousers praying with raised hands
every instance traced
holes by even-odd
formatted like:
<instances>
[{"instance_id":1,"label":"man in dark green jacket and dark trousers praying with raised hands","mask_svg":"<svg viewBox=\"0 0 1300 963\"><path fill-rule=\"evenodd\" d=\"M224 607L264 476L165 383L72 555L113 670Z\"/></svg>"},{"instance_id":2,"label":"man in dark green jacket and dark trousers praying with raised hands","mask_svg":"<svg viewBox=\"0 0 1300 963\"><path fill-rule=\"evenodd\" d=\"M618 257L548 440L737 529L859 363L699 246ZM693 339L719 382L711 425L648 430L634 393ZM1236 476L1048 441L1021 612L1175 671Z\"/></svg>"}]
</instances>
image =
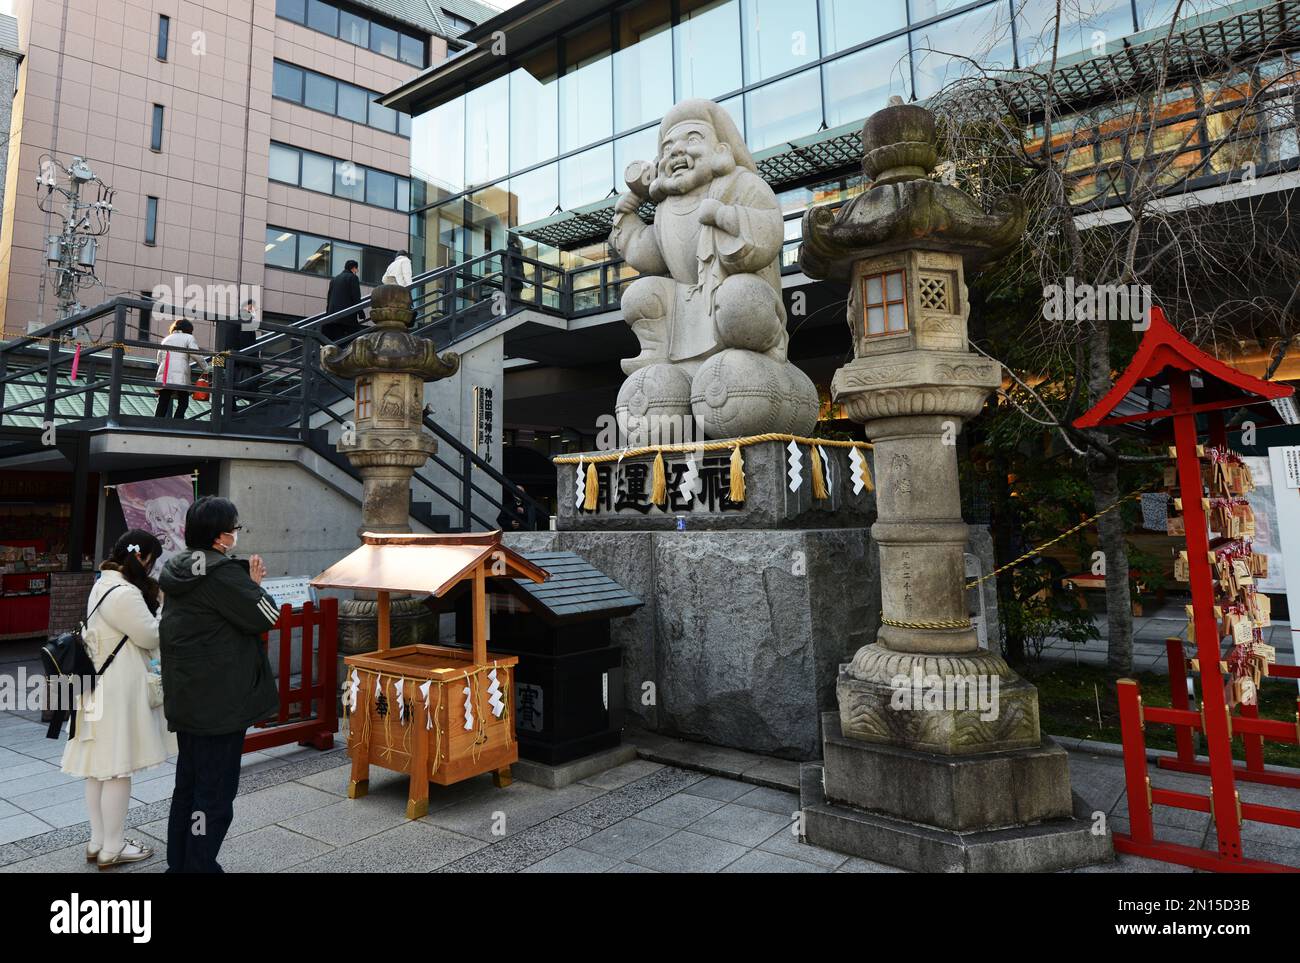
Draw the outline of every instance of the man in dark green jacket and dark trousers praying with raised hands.
<instances>
[{"instance_id":1,"label":"man in dark green jacket and dark trousers praying with raised hands","mask_svg":"<svg viewBox=\"0 0 1300 963\"><path fill-rule=\"evenodd\" d=\"M239 529L234 503L200 498L185 516L187 551L159 577L162 712L179 747L168 872L222 872L217 853L234 819L244 730L280 704L261 645L280 608L261 589L261 558L233 558Z\"/></svg>"}]
</instances>

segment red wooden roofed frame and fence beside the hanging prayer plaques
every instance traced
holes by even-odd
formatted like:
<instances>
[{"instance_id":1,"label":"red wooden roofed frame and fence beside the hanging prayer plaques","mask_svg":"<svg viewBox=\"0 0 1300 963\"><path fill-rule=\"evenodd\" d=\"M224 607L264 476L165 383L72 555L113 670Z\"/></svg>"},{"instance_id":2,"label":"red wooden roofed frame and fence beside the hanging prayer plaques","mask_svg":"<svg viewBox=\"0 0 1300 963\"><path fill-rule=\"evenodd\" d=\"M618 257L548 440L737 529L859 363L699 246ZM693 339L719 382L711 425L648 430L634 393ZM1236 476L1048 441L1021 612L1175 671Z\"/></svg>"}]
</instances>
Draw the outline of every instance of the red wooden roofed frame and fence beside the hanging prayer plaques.
<instances>
[{"instance_id":1,"label":"red wooden roofed frame and fence beside the hanging prayer plaques","mask_svg":"<svg viewBox=\"0 0 1300 963\"><path fill-rule=\"evenodd\" d=\"M1196 389L1200 398L1193 394L1193 374L1201 379L1201 385ZM1157 408L1153 404L1154 398L1148 398L1144 404L1139 403L1139 411L1117 415L1121 404L1144 383L1152 389L1167 389L1167 407ZM1290 398L1292 394L1294 389L1287 385L1261 381L1199 350L1174 330L1161 308L1153 307L1141 344L1123 374L1115 381L1115 386L1074 422L1075 428L1098 428L1170 418L1183 500L1202 708L1197 713L1186 707L1144 707L1136 681L1119 680L1117 690L1130 821L1128 833L1114 833L1114 845L1121 853L1221 872L1294 872L1291 867L1247 859L1242 853L1243 819L1300 828L1300 812L1242 803L1235 788L1232 764L1234 723L1239 733L1266 736L1280 742L1300 742L1300 707L1294 726L1265 719L1234 720L1228 715L1219 667L1219 630L1214 619L1214 582L1210 573L1209 529L1201 504L1196 426L1196 416L1205 413L1209 420L1210 442L1226 447L1227 433L1223 426L1226 409ZM1143 736L1147 723L1166 723L1188 730L1201 729L1205 733L1209 754L1209 797L1152 788L1147 776L1147 747ZM1209 812L1218 836L1218 853L1156 840L1152 824L1153 804Z\"/></svg>"}]
</instances>

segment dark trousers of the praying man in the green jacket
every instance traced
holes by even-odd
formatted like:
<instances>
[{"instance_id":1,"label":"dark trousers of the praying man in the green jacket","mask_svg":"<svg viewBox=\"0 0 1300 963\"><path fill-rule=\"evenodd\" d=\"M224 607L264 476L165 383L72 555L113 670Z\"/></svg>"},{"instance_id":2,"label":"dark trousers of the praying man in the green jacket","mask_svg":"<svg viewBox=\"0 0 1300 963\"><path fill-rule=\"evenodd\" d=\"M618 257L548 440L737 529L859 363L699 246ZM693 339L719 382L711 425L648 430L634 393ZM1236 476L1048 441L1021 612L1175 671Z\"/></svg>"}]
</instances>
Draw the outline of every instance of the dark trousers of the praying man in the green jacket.
<instances>
[{"instance_id":1,"label":"dark trousers of the praying man in the green jacket","mask_svg":"<svg viewBox=\"0 0 1300 963\"><path fill-rule=\"evenodd\" d=\"M176 734L176 791L166 824L169 873L220 873L217 853L235 815L243 730Z\"/></svg>"}]
</instances>

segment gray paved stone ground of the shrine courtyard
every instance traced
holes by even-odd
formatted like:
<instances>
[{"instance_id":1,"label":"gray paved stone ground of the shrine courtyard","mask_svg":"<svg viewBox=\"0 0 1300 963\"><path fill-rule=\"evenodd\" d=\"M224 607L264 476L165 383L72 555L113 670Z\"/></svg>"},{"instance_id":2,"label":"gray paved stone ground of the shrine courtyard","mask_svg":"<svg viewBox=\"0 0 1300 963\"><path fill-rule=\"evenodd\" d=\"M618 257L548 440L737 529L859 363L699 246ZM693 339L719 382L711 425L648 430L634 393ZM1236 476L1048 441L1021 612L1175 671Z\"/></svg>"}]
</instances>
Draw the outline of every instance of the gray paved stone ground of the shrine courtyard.
<instances>
[{"instance_id":1,"label":"gray paved stone ground of the shrine courtyard","mask_svg":"<svg viewBox=\"0 0 1300 963\"><path fill-rule=\"evenodd\" d=\"M637 734L633 734L637 738ZM649 737L646 754L681 747L692 765L744 771L781 782L790 764L733 750ZM0 872L96 872L82 786L57 771L61 743L17 713L0 716ZM640 746L638 746L640 749ZM790 832L796 794L729 776L636 759L564 789L516 781L497 790L489 776L430 788L430 811L404 819L407 780L372 768L370 794L347 799L347 756L286 747L246 756L235 821L222 849L229 872L897 872L798 842ZM1119 759L1071 751L1075 790L1114 829L1127 829ZM156 773L156 775L155 775ZM160 855L116 872L161 872L169 767L136 784L127 823ZM1157 786L1204 791L1193 776L1152 769ZM1288 795L1290 793L1290 795ZM1294 806L1294 790L1242 785L1244 801ZM1160 836L1205 846L1209 815L1157 807ZM1292 829L1247 823L1247 854L1300 866ZM1119 856L1083 872L1184 872Z\"/></svg>"}]
</instances>

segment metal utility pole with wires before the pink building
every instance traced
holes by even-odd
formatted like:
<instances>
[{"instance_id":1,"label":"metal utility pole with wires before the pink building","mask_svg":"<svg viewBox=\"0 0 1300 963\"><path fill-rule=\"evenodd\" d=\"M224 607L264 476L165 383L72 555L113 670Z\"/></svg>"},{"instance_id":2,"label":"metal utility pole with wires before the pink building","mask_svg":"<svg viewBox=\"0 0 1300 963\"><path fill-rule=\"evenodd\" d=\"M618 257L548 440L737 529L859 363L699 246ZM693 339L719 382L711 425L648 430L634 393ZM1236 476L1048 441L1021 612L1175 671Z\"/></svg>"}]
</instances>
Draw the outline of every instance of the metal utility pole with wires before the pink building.
<instances>
[{"instance_id":1,"label":"metal utility pole with wires before the pink building","mask_svg":"<svg viewBox=\"0 0 1300 963\"><path fill-rule=\"evenodd\" d=\"M66 186L61 186L60 179ZM94 200L82 196L83 188L90 185L96 188ZM74 157L72 164L64 166L57 159L46 155L40 159L36 192L36 205L47 214L58 214L64 222L60 234L46 238L46 263L55 277L57 320L62 321L82 311L78 298L82 287L103 283L95 276L95 257L99 238L108 234L114 191L95 177L82 157ZM56 194L62 199L62 211L56 209Z\"/></svg>"}]
</instances>

